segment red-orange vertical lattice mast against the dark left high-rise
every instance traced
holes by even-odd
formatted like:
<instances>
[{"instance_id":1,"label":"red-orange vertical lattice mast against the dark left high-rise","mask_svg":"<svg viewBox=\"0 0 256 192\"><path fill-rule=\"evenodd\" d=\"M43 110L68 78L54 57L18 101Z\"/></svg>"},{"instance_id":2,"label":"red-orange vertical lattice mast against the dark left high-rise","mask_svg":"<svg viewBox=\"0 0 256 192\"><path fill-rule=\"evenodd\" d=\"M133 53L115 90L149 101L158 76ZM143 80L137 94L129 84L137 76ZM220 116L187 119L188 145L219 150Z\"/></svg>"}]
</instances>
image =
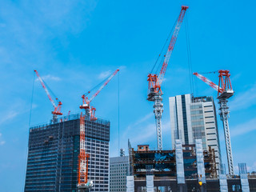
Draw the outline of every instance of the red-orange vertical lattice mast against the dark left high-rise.
<instances>
[{"instance_id":1,"label":"red-orange vertical lattice mast against the dark left high-rise","mask_svg":"<svg viewBox=\"0 0 256 192\"><path fill-rule=\"evenodd\" d=\"M78 187L86 186L88 182L88 160L90 154L86 154L85 146L85 116L80 116L80 153L78 156Z\"/></svg>"}]
</instances>

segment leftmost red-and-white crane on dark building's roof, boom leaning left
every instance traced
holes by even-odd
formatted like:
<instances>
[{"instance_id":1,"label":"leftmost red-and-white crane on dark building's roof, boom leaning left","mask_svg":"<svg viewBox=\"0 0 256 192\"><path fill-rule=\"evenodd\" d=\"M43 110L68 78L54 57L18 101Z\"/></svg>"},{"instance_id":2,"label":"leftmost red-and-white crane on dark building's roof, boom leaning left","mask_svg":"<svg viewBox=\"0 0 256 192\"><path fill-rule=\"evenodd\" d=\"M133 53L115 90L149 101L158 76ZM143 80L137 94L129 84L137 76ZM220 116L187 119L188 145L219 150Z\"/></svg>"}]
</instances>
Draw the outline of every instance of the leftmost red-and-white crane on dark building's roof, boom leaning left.
<instances>
[{"instance_id":1,"label":"leftmost red-and-white crane on dark building's roof, boom leaning left","mask_svg":"<svg viewBox=\"0 0 256 192\"><path fill-rule=\"evenodd\" d=\"M38 74L37 70L34 70L35 74L37 74L39 81L42 84L42 88L46 91L46 94L48 96L48 98L50 99L51 104L54 106L54 111L52 111L51 113L53 114L53 122L57 122L58 119L58 115L62 115L61 113L61 109L62 109L62 102L58 100L57 97L55 97L56 102L58 103L57 105L54 102L54 99L50 96L50 92L46 87L46 83L42 80L41 76Z\"/></svg>"}]
</instances>

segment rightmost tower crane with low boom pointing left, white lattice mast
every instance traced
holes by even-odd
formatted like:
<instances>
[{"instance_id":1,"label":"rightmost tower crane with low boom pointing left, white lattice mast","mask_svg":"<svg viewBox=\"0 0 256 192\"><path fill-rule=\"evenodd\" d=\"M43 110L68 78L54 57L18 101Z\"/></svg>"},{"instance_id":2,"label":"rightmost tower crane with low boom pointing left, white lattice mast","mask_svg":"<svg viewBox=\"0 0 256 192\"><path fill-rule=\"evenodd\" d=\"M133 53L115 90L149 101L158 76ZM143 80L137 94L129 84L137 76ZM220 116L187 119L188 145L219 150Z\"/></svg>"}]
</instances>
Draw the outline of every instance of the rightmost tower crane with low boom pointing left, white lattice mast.
<instances>
[{"instance_id":1,"label":"rightmost tower crane with low boom pointing left, white lattice mast","mask_svg":"<svg viewBox=\"0 0 256 192\"><path fill-rule=\"evenodd\" d=\"M234 166L233 166L233 155L231 150L231 142L230 142L230 128L228 118L230 118L229 107L227 106L228 98L234 95L234 90L232 89L230 82L230 71L229 70L218 70L218 86L211 82L209 79L202 76L202 74L194 73L199 79L203 82L206 82L207 85L214 88L214 90L218 91L218 104L219 107L219 115L223 122L223 129L225 134L226 141L226 156L227 162L229 166L230 175L234 175Z\"/></svg>"}]
</instances>

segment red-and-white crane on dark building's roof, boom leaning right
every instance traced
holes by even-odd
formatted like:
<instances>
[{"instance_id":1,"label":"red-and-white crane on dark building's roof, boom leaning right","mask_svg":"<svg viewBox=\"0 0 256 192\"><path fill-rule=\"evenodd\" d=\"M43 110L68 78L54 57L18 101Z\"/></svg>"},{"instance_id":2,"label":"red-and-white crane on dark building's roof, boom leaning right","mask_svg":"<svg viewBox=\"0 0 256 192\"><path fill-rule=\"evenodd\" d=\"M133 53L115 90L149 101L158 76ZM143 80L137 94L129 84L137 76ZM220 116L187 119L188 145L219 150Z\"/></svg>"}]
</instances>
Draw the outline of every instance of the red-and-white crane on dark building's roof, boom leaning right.
<instances>
[{"instance_id":1,"label":"red-and-white crane on dark building's roof, boom leaning right","mask_svg":"<svg viewBox=\"0 0 256 192\"><path fill-rule=\"evenodd\" d=\"M86 94L82 95L82 106L80 106L80 109L86 110L86 115L90 116L91 121L95 121L95 120L97 120L97 118L95 117L96 108L93 106L90 106L90 102L92 102L94 100L94 98L110 82L110 80L114 77L115 74L118 73L118 71L119 70L115 70L114 73L110 75L110 77L106 78L106 81L102 84L102 86L99 87L99 89L95 92L95 94L90 99L86 96L88 94L90 94L91 90L88 91Z\"/></svg>"}]
</instances>

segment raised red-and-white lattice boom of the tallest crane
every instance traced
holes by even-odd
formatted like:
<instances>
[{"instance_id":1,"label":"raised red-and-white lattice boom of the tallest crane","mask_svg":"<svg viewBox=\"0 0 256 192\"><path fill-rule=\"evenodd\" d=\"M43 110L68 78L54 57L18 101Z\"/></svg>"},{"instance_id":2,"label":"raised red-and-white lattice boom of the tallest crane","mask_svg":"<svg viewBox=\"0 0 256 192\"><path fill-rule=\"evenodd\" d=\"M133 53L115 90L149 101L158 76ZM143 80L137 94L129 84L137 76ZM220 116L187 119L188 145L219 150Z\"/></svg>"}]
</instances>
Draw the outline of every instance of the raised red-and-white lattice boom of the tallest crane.
<instances>
[{"instance_id":1,"label":"raised red-and-white lattice boom of the tallest crane","mask_svg":"<svg viewBox=\"0 0 256 192\"><path fill-rule=\"evenodd\" d=\"M189 8L188 6L182 6L182 10L181 10L181 12L178 16L178 21L177 21L176 26L174 28L174 34L172 35L172 37L170 39L170 45L168 46L168 50L167 50L167 53L166 53L166 58L165 58L165 60L162 64L162 68L161 68L160 73L158 75L158 82L159 82L160 86L161 86L163 78L166 74L166 69L167 69L168 63L170 61L170 55L172 54L172 52L174 50L174 45L175 45L175 42L178 38L178 32L181 29L183 18L185 16L186 10L188 8Z\"/></svg>"}]
</instances>

